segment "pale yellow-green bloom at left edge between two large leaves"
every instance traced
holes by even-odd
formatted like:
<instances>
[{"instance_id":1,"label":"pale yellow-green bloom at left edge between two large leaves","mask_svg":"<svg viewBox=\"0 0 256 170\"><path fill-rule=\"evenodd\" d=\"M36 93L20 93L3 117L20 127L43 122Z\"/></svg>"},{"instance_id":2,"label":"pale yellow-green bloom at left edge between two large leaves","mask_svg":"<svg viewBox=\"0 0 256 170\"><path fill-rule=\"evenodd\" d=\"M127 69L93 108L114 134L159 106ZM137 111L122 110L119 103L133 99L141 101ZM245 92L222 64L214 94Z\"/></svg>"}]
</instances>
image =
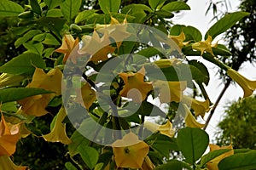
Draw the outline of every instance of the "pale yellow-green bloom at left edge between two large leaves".
<instances>
[{"instance_id":1,"label":"pale yellow-green bloom at left edge between two large leaves","mask_svg":"<svg viewBox=\"0 0 256 170\"><path fill-rule=\"evenodd\" d=\"M15 86L23 79L24 79L24 77L20 76L20 75L12 75L9 73L2 73L0 75L0 88L4 88L7 86Z\"/></svg>"}]
</instances>

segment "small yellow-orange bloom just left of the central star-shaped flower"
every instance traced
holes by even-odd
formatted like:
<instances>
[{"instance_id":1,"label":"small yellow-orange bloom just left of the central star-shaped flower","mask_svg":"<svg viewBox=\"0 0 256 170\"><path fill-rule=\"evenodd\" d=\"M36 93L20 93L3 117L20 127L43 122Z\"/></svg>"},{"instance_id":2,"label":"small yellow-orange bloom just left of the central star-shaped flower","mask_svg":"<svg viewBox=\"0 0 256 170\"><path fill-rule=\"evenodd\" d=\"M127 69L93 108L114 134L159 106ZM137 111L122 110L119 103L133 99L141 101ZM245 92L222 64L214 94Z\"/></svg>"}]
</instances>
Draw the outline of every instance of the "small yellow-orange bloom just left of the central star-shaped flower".
<instances>
[{"instance_id":1,"label":"small yellow-orange bloom just left of the central star-shaped flower","mask_svg":"<svg viewBox=\"0 0 256 170\"><path fill-rule=\"evenodd\" d=\"M86 82L81 90L77 90L77 99L76 101L79 102L81 105L84 105L87 110L89 110L90 105L95 101L96 93L90 87L90 84Z\"/></svg>"}]
</instances>

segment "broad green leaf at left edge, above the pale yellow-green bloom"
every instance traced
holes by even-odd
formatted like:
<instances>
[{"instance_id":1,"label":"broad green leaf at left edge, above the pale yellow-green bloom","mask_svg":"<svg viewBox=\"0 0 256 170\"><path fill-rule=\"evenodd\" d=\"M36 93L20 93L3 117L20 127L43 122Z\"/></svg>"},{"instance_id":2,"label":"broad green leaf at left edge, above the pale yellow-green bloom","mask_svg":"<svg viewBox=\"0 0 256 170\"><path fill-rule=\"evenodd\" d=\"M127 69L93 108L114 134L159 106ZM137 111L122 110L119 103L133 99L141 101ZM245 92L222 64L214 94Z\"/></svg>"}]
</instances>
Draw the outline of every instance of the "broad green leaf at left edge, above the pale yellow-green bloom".
<instances>
[{"instance_id":1,"label":"broad green leaf at left edge, above the pale yellow-green bloom","mask_svg":"<svg viewBox=\"0 0 256 170\"><path fill-rule=\"evenodd\" d=\"M27 74L32 75L35 71L35 66L38 68L45 68L44 59L38 54L20 54L19 56L11 59L6 64L0 67L0 72L9 74Z\"/></svg>"}]
</instances>

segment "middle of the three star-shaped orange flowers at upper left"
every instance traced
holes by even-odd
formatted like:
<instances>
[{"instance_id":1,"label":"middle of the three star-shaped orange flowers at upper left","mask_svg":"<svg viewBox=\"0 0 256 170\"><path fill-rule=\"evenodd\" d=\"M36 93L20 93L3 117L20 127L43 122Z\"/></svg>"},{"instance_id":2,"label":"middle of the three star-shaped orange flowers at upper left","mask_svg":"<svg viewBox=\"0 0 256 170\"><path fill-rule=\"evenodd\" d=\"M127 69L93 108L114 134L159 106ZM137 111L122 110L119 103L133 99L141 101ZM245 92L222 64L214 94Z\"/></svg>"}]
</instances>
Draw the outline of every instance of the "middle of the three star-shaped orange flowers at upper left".
<instances>
[{"instance_id":1,"label":"middle of the three star-shaped orange flowers at upper left","mask_svg":"<svg viewBox=\"0 0 256 170\"><path fill-rule=\"evenodd\" d=\"M90 61L98 62L108 59L108 54L112 54L115 48L111 47L108 32L105 31L103 36L94 31L92 36L82 37L83 47L79 49L79 54L92 54Z\"/></svg>"}]
</instances>

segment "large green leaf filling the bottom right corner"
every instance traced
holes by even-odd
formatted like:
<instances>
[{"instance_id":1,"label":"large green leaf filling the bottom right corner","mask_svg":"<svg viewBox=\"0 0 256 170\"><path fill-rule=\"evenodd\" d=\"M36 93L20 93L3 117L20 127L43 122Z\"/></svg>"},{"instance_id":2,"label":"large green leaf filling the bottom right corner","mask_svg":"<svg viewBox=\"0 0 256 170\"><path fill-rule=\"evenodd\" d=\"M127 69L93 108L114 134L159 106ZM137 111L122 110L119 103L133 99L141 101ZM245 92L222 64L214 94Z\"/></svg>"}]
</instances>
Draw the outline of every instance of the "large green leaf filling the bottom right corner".
<instances>
[{"instance_id":1,"label":"large green leaf filling the bottom right corner","mask_svg":"<svg viewBox=\"0 0 256 170\"><path fill-rule=\"evenodd\" d=\"M219 170L251 170L256 167L256 150L228 156L218 163Z\"/></svg>"}]
</instances>

